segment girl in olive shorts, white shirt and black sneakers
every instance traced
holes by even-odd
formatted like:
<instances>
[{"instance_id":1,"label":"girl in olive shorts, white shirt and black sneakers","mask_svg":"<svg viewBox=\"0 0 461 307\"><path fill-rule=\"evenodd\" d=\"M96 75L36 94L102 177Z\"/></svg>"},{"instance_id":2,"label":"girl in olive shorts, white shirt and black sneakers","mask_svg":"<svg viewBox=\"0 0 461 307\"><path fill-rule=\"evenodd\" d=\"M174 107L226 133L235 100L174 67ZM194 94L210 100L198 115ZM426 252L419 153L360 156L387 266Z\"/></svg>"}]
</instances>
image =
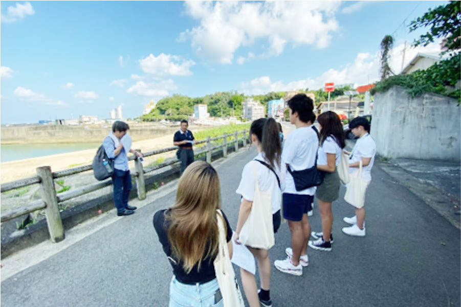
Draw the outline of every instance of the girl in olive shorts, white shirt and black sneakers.
<instances>
[{"instance_id":1,"label":"girl in olive shorts, white shirt and black sneakers","mask_svg":"<svg viewBox=\"0 0 461 307\"><path fill-rule=\"evenodd\" d=\"M322 219L322 232L312 232L317 241L309 241L309 246L317 250L332 249L333 213L332 203L338 199L340 181L338 166L341 159L341 150L346 146L344 131L338 114L332 111L323 112L318 117L320 125L320 147L318 149L317 169L324 172L322 184L317 187L316 197L319 203Z\"/></svg>"}]
</instances>

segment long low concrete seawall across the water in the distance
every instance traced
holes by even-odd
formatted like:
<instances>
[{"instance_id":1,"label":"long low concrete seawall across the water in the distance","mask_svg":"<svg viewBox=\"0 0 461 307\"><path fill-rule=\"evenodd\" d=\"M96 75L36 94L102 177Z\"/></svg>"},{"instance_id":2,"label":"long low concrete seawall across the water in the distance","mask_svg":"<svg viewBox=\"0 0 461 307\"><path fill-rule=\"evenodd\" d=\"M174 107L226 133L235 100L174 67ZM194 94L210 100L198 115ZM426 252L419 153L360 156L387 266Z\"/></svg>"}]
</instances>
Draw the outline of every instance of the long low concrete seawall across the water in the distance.
<instances>
[{"instance_id":1,"label":"long low concrete seawall across the water in the distance","mask_svg":"<svg viewBox=\"0 0 461 307\"><path fill-rule=\"evenodd\" d=\"M133 140L149 139L178 131L178 127L130 127ZM101 142L111 128L70 127L60 125L12 126L0 129L1 144L24 143L88 143Z\"/></svg>"}]
</instances>

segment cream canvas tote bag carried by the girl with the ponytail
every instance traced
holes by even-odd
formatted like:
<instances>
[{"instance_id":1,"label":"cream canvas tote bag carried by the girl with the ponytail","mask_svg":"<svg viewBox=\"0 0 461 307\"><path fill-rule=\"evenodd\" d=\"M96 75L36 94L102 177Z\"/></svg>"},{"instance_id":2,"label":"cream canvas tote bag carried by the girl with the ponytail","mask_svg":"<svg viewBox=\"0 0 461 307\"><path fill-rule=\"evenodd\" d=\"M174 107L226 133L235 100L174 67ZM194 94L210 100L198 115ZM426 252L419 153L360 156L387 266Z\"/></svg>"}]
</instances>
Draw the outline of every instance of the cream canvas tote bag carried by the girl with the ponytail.
<instances>
[{"instance_id":1,"label":"cream canvas tote bag carried by the girl with the ponytail","mask_svg":"<svg viewBox=\"0 0 461 307\"><path fill-rule=\"evenodd\" d=\"M271 193L259 190L256 168L252 163L250 163L250 167L255 176L253 205L238 238L242 244L254 248L269 249L275 244Z\"/></svg>"}]
</instances>

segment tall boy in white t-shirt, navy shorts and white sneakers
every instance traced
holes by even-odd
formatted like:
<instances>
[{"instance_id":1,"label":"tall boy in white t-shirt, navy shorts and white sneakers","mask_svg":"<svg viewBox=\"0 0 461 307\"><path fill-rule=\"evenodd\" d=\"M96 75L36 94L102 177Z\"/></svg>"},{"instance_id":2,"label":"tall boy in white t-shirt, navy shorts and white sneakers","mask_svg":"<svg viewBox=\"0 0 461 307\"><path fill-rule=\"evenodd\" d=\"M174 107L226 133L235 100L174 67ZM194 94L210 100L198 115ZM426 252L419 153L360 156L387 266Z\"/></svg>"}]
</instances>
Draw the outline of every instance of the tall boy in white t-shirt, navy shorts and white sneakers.
<instances>
[{"instance_id":1,"label":"tall boy in white t-shirt, navy shorts and white sneakers","mask_svg":"<svg viewBox=\"0 0 461 307\"><path fill-rule=\"evenodd\" d=\"M288 101L290 122L296 126L284 141L282 163L293 171L314 167L319 139L311 127L314 103L305 94L293 96ZM302 267L309 264L306 248L311 236L308 212L312 208L315 187L297 191L292 175L287 172L283 191L283 218L288 221L291 231L291 248L285 252L288 257L276 260L275 267L284 273L302 275Z\"/></svg>"}]
</instances>

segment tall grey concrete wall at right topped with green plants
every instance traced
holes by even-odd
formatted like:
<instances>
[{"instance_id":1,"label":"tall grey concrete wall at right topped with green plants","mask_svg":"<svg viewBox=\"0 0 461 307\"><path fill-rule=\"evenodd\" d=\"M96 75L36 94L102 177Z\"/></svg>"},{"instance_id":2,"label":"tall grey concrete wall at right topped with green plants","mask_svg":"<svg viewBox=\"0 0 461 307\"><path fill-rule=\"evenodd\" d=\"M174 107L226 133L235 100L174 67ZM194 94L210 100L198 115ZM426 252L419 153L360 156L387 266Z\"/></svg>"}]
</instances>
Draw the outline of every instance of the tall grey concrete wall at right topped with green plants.
<instances>
[{"instance_id":1,"label":"tall grey concrete wall at right topped with green plants","mask_svg":"<svg viewBox=\"0 0 461 307\"><path fill-rule=\"evenodd\" d=\"M376 93L371 122L377 153L388 158L460 161L457 100L426 93L411 98L400 86Z\"/></svg>"}]
</instances>

